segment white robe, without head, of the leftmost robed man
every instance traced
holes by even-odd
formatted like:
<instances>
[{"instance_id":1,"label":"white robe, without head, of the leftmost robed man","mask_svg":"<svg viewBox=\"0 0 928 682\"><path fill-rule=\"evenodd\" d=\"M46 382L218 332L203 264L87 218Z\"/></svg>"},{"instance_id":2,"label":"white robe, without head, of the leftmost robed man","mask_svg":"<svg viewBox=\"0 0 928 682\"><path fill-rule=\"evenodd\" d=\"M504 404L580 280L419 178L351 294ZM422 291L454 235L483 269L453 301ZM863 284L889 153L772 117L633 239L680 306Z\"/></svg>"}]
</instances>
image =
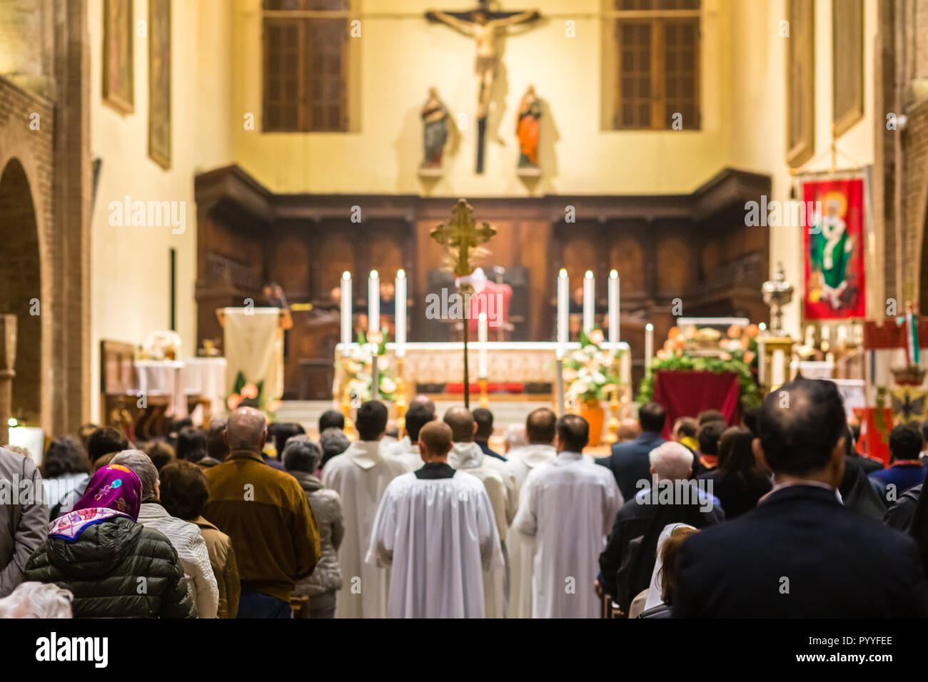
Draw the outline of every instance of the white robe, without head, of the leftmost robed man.
<instances>
[{"instance_id":1,"label":"white robe, without head, of the leftmost robed man","mask_svg":"<svg viewBox=\"0 0 928 682\"><path fill-rule=\"evenodd\" d=\"M356 441L329 459L322 484L342 496L345 534L339 547L342 589L336 618L385 618L389 571L365 563L370 529L387 485L409 468L393 457L380 455L378 441Z\"/></svg>"}]
</instances>

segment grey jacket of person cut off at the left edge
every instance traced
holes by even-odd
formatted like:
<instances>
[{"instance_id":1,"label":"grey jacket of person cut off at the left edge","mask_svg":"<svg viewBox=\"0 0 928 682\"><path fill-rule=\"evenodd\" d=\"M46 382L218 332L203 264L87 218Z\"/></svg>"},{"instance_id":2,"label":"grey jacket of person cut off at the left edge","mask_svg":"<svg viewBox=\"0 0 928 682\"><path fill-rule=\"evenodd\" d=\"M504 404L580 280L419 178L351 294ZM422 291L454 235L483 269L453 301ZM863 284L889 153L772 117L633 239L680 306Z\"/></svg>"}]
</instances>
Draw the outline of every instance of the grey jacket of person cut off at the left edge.
<instances>
[{"instance_id":1,"label":"grey jacket of person cut off at the left edge","mask_svg":"<svg viewBox=\"0 0 928 682\"><path fill-rule=\"evenodd\" d=\"M26 561L47 534L42 475L32 459L0 447L0 598L22 582Z\"/></svg>"}]
</instances>

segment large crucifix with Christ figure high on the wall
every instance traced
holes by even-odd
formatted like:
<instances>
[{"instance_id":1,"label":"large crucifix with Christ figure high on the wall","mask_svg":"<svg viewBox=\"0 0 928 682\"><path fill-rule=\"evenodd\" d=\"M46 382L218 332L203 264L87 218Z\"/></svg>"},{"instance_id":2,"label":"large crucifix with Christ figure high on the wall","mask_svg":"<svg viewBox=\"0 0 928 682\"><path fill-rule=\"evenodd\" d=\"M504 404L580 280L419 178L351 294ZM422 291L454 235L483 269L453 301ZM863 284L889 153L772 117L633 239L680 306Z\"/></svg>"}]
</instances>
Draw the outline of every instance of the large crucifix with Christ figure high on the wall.
<instances>
[{"instance_id":1,"label":"large crucifix with Christ figure high on the wall","mask_svg":"<svg viewBox=\"0 0 928 682\"><path fill-rule=\"evenodd\" d=\"M469 12L426 12L425 18L440 21L474 39L477 44L475 70L480 78L477 92L477 173L483 173L483 146L486 137L486 114L493 94L496 65L499 63L498 39L509 26L539 19L537 10L525 12L496 12L490 9L490 0L479 0Z\"/></svg>"}]
</instances>

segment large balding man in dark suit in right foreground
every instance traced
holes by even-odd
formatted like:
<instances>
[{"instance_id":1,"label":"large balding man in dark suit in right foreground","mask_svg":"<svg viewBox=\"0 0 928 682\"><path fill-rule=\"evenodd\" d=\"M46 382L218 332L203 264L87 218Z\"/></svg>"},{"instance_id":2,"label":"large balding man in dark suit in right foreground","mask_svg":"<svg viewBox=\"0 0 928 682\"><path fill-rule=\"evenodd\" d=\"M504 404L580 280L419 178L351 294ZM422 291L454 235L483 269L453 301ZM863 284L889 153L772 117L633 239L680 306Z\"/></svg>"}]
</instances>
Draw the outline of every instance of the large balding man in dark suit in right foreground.
<instances>
[{"instance_id":1,"label":"large balding man in dark suit in right foreground","mask_svg":"<svg viewBox=\"0 0 928 682\"><path fill-rule=\"evenodd\" d=\"M754 511L688 537L675 617L928 616L925 577L909 536L844 508L844 405L826 380L767 395L754 456L774 488Z\"/></svg>"}]
</instances>

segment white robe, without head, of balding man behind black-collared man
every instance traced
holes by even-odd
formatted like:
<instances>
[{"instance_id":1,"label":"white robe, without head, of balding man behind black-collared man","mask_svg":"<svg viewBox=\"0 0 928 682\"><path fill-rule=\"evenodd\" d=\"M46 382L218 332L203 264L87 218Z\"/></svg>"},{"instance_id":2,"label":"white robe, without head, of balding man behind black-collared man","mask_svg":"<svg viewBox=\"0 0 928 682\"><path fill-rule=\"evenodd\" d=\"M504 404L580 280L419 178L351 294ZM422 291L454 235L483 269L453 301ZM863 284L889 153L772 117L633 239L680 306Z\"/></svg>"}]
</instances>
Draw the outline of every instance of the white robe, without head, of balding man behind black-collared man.
<instances>
[{"instance_id":1,"label":"white robe, without head, of balding man behind black-collared man","mask_svg":"<svg viewBox=\"0 0 928 682\"><path fill-rule=\"evenodd\" d=\"M516 480L506 463L496 457L488 457L476 443L455 443L448 453L448 464L454 469L466 471L476 476L483 483L486 494L490 497L493 515L496 519L496 532L500 542L505 543L509 525L515 518L519 507L519 494ZM505 618L509 592L509 559L503 555L504 565L483 575L483 594L487 618Z\"/></svg>"}]
</instances>

